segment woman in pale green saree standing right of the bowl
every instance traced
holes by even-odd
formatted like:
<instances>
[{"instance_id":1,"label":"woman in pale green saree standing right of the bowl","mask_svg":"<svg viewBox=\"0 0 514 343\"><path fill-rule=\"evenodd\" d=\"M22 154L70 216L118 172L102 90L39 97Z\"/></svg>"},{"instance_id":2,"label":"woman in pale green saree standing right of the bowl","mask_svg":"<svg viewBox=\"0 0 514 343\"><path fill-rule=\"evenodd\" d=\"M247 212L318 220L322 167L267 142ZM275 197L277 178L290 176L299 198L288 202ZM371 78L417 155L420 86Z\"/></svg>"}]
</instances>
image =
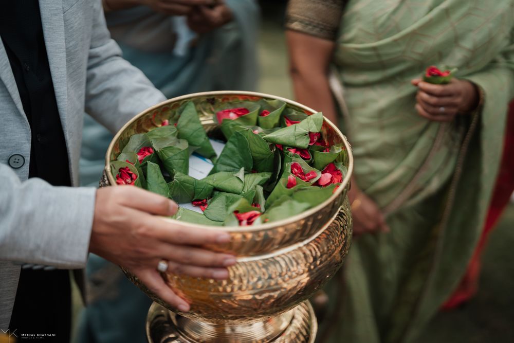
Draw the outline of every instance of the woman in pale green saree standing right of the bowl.
<instances>
[{"instance_id":1,"label":"woman in pale green saree standing right of the bowl","mask_svg":"<svg viewBox=\"0 0 514 343\"><path fill-rule=\"evenodd\" d=\"M514 0L290 1L297 99L339 122L355 157L356 237L318 338L416 341L458 285L514 95L512 17ZM456 78L421 82L430 65Z\"/></svg>"}]
</instances>

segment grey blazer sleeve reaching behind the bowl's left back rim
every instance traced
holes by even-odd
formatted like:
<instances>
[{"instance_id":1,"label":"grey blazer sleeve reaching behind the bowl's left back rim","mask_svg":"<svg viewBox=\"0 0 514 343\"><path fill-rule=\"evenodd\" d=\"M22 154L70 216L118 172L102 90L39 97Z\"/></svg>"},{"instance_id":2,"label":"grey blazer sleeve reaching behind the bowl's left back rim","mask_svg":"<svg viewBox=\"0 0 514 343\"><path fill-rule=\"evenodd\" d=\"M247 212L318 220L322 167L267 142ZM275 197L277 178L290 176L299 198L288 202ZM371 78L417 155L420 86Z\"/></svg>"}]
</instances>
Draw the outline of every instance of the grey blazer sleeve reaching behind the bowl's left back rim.
<instances>
[{"instance_id":1,"label":"grey blazer sleeve reaching behind the bowl's left back rim","mask_svg":"<svg viewBox=\"0 0 514 343\"><path fill-rule=\"evenodd\" d=\"M94 2L94 22L87 63L86 112L112 132L166 97L144 74L122 59L121 49L105 24L100 1Z\"/></svg>"}]
</instances>

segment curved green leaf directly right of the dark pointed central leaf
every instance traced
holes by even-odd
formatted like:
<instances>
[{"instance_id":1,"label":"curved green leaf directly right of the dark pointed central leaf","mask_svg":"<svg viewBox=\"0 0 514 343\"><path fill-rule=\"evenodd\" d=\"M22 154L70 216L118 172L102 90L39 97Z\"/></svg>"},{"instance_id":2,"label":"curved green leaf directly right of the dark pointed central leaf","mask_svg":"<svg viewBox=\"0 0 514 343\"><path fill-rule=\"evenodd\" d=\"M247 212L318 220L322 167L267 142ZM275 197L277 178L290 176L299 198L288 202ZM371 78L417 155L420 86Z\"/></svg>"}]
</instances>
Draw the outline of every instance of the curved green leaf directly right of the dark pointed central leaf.
<instances>
[{"instance_id":1,"label":"curved green leaf directly right of the dark pointed central leaf","mask_svg":"<svg viewBox=\"0 0 514 343\"><path fill-rule=\"evenodd\" d=\"M238 133L245 136L248 141L253 160L253 170L256 172L272 172L274 170L275 146L270 145L261 135L249 129L244 129ZM232 137L235 137L235 135Z\"/></svg>"}]
</instances>

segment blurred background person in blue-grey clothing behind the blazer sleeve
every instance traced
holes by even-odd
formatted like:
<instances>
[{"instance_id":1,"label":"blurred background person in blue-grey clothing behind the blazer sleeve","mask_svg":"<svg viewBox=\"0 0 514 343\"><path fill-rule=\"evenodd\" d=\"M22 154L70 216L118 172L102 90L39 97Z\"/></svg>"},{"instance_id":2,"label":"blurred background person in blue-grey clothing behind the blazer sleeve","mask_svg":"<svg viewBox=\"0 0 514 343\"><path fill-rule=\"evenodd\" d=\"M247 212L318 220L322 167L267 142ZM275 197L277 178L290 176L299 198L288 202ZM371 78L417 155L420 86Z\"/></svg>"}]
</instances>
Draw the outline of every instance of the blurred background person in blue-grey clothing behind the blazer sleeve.
<instances>
[{"instance_id":1,"label":"blurred background person in blue-grey clothing behind the blazer sleeve","mask_svg":"<svg viewBox=\"0 0 514 343\"><path fill-rule=\"evenodd\" d=\"M206 3L205 0L202 0ZM256 86L259 7L254 0L103 0L109 31L131 62L168 98ZM118 101L123 101L119 99ZM95 185L112 134L86 115L80 177ZM90 255L88 306L79 342L145 342L151 300L121 269Z\"/></svg>"}]
</instances>

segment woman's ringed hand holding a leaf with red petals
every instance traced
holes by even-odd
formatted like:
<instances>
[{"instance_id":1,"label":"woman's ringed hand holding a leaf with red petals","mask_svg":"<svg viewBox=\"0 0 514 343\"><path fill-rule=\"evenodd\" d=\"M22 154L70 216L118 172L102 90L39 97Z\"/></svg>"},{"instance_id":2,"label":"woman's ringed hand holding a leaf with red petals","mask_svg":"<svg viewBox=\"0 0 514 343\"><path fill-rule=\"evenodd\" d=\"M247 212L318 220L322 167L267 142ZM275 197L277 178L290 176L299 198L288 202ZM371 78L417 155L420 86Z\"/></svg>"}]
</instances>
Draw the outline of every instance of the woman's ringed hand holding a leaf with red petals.
<instances>
[{"instance_id":1,"label":"woman's ringed hand holding a leaf with red petals","mask_svg":"<svg viewBox=\"0 0 514 343\"><path fill-rule=\"evenodd\" d=\"M476 109L480 100L478 88L466 80L452 79L448 84L431 84L414 79L418 87L416 110L434 121L452 121L459 113Z\"/></svg>"}]
</instances>

